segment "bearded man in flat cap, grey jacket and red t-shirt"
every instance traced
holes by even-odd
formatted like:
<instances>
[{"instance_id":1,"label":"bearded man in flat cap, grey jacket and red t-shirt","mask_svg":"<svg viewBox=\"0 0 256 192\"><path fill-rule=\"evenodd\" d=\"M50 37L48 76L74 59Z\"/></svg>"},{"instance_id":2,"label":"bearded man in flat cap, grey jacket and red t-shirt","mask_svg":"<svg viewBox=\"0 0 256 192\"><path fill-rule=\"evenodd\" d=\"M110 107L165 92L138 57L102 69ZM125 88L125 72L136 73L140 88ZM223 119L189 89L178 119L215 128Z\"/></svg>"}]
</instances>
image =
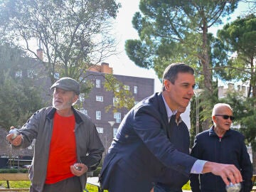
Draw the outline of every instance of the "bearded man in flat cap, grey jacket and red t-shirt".
<instances>
[{"instance_id":1,"label":"bearded man in flat cap, grey jacket and red t-shirt","mask_svg":"<svg viewBox=\"0 0 256 192\"><path fill-rule=\"evenodd\" d=\"M23 149L36 139L29 169L32 192L81 192L87 171L96 169L104 146L90 117L75 110L79 83L60 78L51 87L53 106L38 110L6 139L14 149ZM11 127L14 129L14 127Z\"/></svg>"}]
</instances>

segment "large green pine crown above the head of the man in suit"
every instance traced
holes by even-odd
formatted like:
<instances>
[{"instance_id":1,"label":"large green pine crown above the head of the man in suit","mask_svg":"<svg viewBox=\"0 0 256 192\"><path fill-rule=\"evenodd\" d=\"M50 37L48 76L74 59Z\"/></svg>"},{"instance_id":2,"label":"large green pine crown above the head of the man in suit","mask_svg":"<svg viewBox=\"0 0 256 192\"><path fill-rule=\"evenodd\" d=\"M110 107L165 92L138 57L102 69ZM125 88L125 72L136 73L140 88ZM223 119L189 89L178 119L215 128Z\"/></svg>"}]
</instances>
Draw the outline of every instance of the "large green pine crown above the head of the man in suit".
<instances>
[{"instance_id":1,"label":"large green pine crown above the head of the man in suit","mask_svg":"<svg viewBox=\"0 0 256 192\"><path fill-rule=\"evenodd\" d=\"M163 68L176 62L191 64L199 72L210 48L204 30L221 23L237 5L238 1L140 1L140 12L132 20L139 40L126 41L127 55L142 68L154 68L159 78Z\"/></svg>"}]
</instances>

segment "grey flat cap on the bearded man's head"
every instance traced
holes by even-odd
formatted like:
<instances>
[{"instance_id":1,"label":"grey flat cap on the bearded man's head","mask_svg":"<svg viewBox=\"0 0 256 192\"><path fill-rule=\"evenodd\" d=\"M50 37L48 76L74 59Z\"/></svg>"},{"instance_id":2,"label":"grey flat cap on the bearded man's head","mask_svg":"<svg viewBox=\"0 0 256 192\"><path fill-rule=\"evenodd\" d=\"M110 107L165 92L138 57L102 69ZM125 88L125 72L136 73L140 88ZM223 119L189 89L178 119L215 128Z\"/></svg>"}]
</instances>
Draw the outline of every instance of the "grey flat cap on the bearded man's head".
<instances>
[{"instance_id":1,"label":"grey flat cap on the bearded man's head","mask_svg":"<svg viewBox=\"0 0 256 192\"><path fill-rule=\"evenodd\" d=\"M69 90L75 92L75 95L80 94L80 85L79 82L74 80L73 78L60 78L50 87L50 90L58 87L63 90Z\"/></svg>"}]
</instances>

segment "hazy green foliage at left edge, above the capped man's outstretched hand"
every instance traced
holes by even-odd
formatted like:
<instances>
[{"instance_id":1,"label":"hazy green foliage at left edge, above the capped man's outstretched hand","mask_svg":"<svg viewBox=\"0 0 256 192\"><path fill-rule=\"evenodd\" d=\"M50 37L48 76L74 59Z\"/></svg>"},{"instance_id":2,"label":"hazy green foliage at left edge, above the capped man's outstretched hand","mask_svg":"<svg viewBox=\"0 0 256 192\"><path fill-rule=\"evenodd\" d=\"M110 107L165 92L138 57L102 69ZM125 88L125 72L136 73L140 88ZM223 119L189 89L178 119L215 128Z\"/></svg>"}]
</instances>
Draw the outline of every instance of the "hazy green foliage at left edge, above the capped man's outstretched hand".
<instances>
[{"instance_id":1,"label":"hazy green foliage at left edge, above the capped man's outstretched hand","mask_svg":"<svg viewBox=\"0 0 256 192\"><path fill-rule=\"evenodd\" d=\"M12 125L20 127L33 112L42 107L38 90L27 86L27 84L17 83L8 73L2 77L0 84L1 127L6 129Z\"/></svg>"}]
</instances>

